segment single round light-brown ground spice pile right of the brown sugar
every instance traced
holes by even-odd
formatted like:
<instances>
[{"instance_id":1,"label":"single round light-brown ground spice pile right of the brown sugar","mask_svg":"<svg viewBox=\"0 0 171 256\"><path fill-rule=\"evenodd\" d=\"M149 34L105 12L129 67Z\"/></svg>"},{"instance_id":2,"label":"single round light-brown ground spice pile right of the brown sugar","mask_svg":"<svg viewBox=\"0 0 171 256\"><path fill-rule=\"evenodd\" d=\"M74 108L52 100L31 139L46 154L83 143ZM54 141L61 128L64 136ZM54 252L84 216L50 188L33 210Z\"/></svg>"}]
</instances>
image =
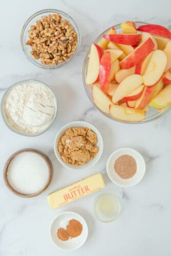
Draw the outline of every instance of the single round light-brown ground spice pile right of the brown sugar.
<instances>
[{"instance_id":1,"label":"single round light-brown ground spice pile right of the brown sugar","mask_svg":"<svg viewBox=\"0 0 171 256\"><path fill-rule=\"evenodd\" d=\"M137 163L132 156L122 155L116 159L114 169L120 178L130 179L137 172Z\"/></svg>"}]
</instances>

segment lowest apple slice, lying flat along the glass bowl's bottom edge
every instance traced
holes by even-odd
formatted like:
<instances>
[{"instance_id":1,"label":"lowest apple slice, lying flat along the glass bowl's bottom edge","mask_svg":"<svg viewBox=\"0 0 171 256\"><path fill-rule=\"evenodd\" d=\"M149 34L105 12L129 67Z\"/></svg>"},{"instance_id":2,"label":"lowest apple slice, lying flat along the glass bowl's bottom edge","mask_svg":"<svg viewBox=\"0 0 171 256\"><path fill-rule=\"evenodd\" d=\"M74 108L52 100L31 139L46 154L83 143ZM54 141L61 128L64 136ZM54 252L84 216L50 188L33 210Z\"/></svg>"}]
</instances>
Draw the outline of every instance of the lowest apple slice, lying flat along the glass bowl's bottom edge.
<instances>
[{"instance_id":1,"label":"lowest apple slice, lying flat along the glass bowl's bottom edge","mask_svg":"<svg viewBox=\"0 0 171 256\"><path fill-rule=\"evenodd\" d=\"M109 112L112 117L127 121L127 122L140 122L145 118L145 112L127 108L121 105L110 105Z\"/></svg>"}]
</instances>

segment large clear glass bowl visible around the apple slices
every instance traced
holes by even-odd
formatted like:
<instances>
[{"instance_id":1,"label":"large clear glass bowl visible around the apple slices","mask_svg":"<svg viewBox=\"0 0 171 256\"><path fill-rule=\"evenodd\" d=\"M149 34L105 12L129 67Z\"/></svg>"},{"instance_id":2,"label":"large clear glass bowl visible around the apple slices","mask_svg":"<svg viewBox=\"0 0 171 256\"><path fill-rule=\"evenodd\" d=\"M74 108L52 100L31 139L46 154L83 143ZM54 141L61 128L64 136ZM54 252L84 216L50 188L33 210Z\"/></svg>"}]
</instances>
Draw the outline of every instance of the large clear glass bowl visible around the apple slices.
<instances>
[{"instance_id":1,"label":"large clear glass bowl visible around the apple slices","mask_svg":"<svg viewBox=\"0 0 171 256\"><path fill-rule=\"evenodd\" d=\"M148 24L148 23L145 23L145 22L135 22L136 26L139 27L141 25L145 25L145 24ZM120 27L121 24L117 24L117 25L114 25L112 27L114 27L117 31L117 33L121 33L121 27ZM106 29L105 31L103 31L95 40L94 44L98 44L99 40L103 37L103 34L106 34L108 33L108 31L111 29L108 28ZM145 115L145 119L141 122L127 122L127 121L122 121L122 120L119 120L119 119L116 119L116 118L113 118L110 114L106 114L104 112L102 112L95 104L94 100L93 100L93 97L92 97L92 90L90 89L90 87L86 84L86 75L87 75L87 70L88 70L88 64L89 64L89 56L90 54L90 48L86 54L86 57L84 58L84 61L83 61L83 67L82 67L82 80L83 80L83 86L84 86L84 89L87 93L87 96L89 97L90 101L93 103L93 105L95 106L95 108L97 108L103 115L105 115L106 117L109 117L115 121L118 121L118 122L122 122L122 123L146 123L146 122L149 122L149 121L152 121L152 120L155 120L161 116L163 116L164 114L166 114L169 110L171 110L171 105L168 106L165 110L161 111L161 112L158 112L155 108L151 107L151 106L148 106L149 108L149 111L147 111L146 115Z\"/></svg>"}]
</instances>

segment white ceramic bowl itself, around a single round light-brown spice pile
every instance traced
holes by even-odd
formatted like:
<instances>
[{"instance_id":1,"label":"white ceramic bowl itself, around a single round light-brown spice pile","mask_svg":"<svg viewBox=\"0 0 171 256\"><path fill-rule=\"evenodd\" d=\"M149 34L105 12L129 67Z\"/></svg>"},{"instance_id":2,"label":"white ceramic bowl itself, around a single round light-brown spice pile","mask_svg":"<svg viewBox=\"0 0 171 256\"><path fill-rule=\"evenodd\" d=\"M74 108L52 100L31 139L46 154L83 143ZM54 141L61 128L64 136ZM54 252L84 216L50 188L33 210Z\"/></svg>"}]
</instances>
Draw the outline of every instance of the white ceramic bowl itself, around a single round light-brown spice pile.
<instances>
[{"instance_id":1,"label":"white ceramic bowl itself, around a single round light-brown spice pile","mask_svg":"<svg viewBox=\"0 0 171 256\"><path fill-rule=\"evenodd\" d=\"M114 170L115 161L118 159L118 157L122 155L130 155L136 160L137 172L130 179L120 178L119 175ZM126 148L126 147L120 148L119 150L116 150L115 152L113 152L112 155L109 157L106 165L106 169L107 169L108 176L113 183L121 187L131 187L139 183L144 177L145 161L142 155L138 151L133 150L133 148Z\"/></svg>"}]
</instances>

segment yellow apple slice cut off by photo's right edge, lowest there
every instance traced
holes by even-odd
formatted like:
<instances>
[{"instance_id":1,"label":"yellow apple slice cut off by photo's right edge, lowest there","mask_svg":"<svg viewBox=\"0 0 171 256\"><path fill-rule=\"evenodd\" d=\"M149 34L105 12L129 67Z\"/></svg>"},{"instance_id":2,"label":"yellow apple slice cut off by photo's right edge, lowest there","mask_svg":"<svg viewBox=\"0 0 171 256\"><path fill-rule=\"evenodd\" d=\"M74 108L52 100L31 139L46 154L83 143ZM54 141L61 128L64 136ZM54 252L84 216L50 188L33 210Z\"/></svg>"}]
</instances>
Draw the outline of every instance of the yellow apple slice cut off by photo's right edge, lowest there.
<instances>
[{"instance_id":1,"label":"yellow apple slice cut off by photo's right edge, lowest there","mask_svg":"<svg viewBox=\"0 0 171 256\"><path fill-rule=\"evenodd\" d=\"M168 84L155 98L151 100L149 105L157 109L166 108L171 104L171 83Z\"/></svg>"}]
</instances>

